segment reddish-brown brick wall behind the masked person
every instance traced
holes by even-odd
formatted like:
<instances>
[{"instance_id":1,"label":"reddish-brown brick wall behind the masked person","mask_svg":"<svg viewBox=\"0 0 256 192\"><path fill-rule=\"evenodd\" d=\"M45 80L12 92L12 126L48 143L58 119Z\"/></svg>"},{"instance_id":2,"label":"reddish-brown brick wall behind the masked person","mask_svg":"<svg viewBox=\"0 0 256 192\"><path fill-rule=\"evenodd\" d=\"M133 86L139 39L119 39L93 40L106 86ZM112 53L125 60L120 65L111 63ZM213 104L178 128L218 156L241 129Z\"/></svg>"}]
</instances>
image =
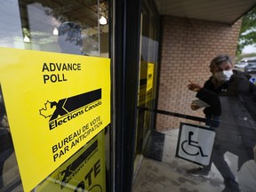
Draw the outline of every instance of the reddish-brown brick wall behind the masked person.
<instances>
[{"instance_id":1,"label":"reddish-brown brick wall behind the masked person","mask_svg":"<svg viewBox=\"0 0 256 192\"><path fill-rule=\"evenodd\" d=\"M192 111L195 92L187 89L188 80L198 84L211 76L213 57L228 53L235 60L241 20L233 26L204 20L164 16L158 109L204 117L202 109ZM178 128L186 119L157 115L156 129ZM193 122L195 123L195 122Z\"/></svg>"}]
</instances>

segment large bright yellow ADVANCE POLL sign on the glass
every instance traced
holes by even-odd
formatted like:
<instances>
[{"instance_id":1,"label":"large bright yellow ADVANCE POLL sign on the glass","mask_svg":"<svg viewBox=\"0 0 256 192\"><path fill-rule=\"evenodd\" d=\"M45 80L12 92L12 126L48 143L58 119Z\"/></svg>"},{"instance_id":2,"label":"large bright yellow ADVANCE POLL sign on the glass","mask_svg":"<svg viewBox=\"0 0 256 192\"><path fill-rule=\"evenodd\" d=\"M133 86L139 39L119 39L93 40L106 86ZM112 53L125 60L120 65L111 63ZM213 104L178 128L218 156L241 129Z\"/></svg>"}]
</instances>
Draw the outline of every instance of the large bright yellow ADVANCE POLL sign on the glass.
<instances>
[{"instance_id":1,"label":"large bright yellow ADVANCE POLL sign on the glass","mask_svg":"<svg viewBox=\"0 0 256 192\"><path fill-rule=\"evenodd\" d=\"M110 123L110 60L0 48L0 83L30 191Z\"/></svg>"}]
</instances>

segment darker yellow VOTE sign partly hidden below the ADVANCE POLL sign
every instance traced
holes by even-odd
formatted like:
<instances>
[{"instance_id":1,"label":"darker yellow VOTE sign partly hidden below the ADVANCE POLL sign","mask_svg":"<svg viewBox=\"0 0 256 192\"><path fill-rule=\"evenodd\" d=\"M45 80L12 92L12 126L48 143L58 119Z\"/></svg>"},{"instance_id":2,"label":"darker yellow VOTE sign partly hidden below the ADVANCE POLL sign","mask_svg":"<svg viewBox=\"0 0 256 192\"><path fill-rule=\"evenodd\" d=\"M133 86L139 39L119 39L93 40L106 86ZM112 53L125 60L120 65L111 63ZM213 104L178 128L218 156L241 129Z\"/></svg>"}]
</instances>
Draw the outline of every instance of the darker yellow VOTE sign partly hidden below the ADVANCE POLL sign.
<instances>
[{"instance_id":1,"label":"darker yellow VOTE sign partly hidden below the ADVANCE POLL sign","mask_svg":"<svg viewBox=\"0 0 256 192\"><path fill-rule=\"evenodd\" d=\"M104 132L90 140L74 156L36 187L38 192L105 192Z\"/></svg>"}]
</instances>

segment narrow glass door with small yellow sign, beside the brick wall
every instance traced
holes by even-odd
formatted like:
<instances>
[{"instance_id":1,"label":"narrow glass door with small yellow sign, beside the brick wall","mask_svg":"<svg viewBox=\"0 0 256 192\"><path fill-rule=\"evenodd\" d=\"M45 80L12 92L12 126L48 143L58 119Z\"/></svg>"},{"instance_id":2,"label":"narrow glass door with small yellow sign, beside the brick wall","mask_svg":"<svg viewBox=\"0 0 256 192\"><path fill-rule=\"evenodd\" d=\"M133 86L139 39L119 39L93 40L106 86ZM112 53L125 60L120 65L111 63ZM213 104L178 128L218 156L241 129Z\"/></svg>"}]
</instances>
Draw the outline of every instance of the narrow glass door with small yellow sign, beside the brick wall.
<instances>
[{"instance_id":1,"label":"narrow glass door with small yellow sign, beside the brick wall","mask_svg":"<svg viewBox=\"0 0 256 192\"><path fill-rule=\"evenodd\" d=\"M153 1L143 1L140 34L139 108L154 108L156 104L157 56L158 13ZM136 155L142 153L152 129L154 129L154 114L138 110Z\"/></svg>"}]
</instances>

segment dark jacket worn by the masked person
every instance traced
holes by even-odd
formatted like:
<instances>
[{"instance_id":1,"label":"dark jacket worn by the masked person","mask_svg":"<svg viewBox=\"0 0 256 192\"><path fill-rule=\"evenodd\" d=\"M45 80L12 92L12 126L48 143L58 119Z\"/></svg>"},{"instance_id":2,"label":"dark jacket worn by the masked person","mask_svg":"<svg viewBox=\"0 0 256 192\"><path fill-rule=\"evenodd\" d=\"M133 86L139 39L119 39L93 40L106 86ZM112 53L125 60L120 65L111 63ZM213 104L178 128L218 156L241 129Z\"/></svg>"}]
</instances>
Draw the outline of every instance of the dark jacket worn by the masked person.
<instances>
[{"instance_id":1,"label":"dark jacket worn by the masked person","mask_svg":"<svg viewBox=\"0 0 256 192\"><path fill-rule=\"evenodd\" d=\"M205 116L220 119L214 147L239 156L238 170L254 158L256 144L256 86L249 78L244 72L234 70L229 81L215 88L210 77L196 94L210 105L204 108Z\"/></svg>"}]
</instances>

